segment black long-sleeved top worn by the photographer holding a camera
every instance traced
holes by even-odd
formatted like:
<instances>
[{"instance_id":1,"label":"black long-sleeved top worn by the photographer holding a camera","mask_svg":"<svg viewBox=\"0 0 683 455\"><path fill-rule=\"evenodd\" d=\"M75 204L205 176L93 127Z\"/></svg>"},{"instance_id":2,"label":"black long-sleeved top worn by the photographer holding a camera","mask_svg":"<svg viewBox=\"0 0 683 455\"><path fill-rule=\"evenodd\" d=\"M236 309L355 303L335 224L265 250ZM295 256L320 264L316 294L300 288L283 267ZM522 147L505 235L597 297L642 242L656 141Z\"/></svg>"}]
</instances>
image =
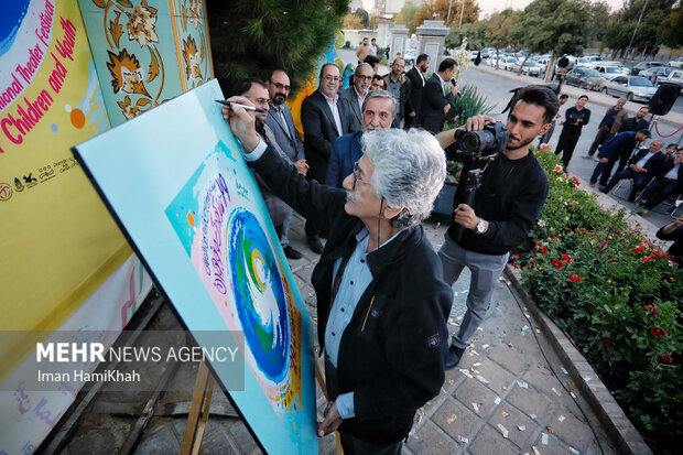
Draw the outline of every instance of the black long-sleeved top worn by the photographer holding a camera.
<instances>
[{"instance_id":1,"label":"black long-sleeved top worn by the photographer holding a camera","mask_svg":"<svg viewBox=\"0 0 683 455\"><path fill-rule=\"evenodd\" d=\"M536 221L545 204L548 187L548 177L533 153L529 152L519 160L509 160L499 153L484 171L473 207L479 218L489 223L488 230L476 234L465 229L458 245L484 254L510 251ZM456 202L458 197L459 192L456 192ZM453 223L448 228L453 240L456 226Z\"/></svg>"}]
</instances>

